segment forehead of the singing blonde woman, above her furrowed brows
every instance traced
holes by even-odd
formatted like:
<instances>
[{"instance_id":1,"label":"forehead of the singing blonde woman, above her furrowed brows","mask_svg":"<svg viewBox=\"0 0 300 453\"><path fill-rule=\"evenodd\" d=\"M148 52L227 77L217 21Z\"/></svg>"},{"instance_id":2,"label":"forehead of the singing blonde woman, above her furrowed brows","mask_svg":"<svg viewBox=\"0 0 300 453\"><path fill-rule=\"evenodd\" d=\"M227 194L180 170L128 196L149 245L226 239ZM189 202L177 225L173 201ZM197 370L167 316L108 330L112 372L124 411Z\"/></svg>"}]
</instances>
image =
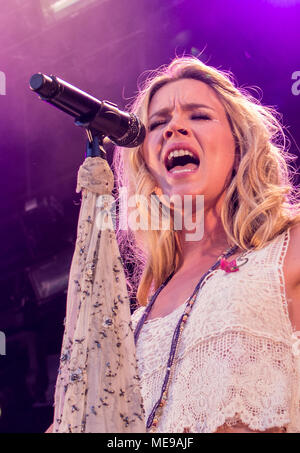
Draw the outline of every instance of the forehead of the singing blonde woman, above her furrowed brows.
<instances>
[{"instance_id":1,"label":"forehead of the singing blonde woman, above her furrowed brows","mask_svg":"<svg viewBox=\"0 0 300 453\"><path fill-rule=\"evenodd\" d=\"M206 104L215 110L224 111L224 107L215 91L206 83L195 79L180 79L161 87L151 99L148 115L158 110L174 109L177 104Z\"/></svg>"}]
</instances>

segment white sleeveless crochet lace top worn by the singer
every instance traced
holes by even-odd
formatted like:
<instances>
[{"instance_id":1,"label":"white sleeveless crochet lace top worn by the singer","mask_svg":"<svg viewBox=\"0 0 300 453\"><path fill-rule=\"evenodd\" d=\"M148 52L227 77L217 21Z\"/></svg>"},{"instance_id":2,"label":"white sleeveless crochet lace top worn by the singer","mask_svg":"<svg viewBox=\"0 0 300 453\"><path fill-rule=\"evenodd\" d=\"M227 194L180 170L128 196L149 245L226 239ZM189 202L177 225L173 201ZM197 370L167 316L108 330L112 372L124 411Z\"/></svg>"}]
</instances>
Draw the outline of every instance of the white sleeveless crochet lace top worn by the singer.
<instances>
[{"instance_id":1,"label":"white sleeveless crochet lace top worn by the singer","mask_svg":"<svg viewBox=\"0 0 300 453\"><path fill-rule=\"evenodd\" d=\"M247 252L239 271L217 269L207 280L183 330L157 432L211 433L236 422L300 432L300 339L289 320L283 276L288 242L289 230ZM144 309L132 315L133 328ZM142 327L136 355L147 417L183 310Z\"/></svg>"}]
</instances>

